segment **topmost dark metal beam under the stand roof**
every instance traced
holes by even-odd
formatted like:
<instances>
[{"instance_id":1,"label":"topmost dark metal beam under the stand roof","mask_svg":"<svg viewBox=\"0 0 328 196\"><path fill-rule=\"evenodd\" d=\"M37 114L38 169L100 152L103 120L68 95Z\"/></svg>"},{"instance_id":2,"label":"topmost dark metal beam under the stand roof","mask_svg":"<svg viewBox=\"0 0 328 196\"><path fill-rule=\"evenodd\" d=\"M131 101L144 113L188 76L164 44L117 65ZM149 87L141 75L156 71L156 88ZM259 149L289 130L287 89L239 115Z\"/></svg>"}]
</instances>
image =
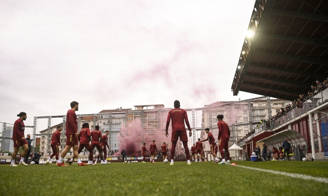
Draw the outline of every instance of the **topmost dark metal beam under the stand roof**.
<instances>
[{"instance_id":1,"label":"topmost dark metal beam under the stand roof","mask_svg":"<svg viewBox=\"0 0 328 196\"><path fill-rule=\"evenodd\" d=\"M283 16L291 16L296 18L305 18L310 20L319 20L319 21L325 21L328 22L328 17L321 14L311 14L307 12L296 12L296 11L290 11L290 10L277 10L272 9L271 14L280 14Z\"/></svg>"}]
</instances>

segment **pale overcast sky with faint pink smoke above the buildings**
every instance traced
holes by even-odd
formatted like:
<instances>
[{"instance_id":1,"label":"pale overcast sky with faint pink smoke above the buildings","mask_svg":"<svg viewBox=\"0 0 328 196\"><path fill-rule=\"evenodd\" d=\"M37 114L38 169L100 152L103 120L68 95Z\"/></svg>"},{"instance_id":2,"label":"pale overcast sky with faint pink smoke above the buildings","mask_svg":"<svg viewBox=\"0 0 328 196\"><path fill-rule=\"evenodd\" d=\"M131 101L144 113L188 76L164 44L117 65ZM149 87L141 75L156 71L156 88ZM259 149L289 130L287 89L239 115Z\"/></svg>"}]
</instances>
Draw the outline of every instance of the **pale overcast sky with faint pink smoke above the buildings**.
<instances>
[{"instance_id":1,"label":"pale overcast sky with faint pink smoke above the buildings","mask_svg":"<svg viewBox=\"0 0 328 196\"><path fill-rule=\"evenodd\" d=\"M231 92L254 3L1 1L0 121L256 97Z\"/></svg>"}]
</instances>

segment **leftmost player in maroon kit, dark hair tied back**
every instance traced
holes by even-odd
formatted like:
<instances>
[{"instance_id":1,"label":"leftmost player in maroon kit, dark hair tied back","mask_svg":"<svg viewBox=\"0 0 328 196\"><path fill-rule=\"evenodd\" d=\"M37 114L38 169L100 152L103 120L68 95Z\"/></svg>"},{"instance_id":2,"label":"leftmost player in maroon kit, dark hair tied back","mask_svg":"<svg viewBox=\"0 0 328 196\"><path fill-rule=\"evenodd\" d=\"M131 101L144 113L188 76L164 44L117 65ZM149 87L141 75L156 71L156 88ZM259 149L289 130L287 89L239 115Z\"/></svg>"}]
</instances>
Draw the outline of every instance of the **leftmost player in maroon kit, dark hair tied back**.
<instances>
[{"instance_id":1,"label":"leftmost player in maroon kit, dark hair tied back","mask_svg":"<svg viewBox=\"0 0 328 196\"><path fill-rule=\"evenodd\" d=\"M20 146L22 146L24 150L22 153L22 157L20 157L19 164L28 165L24 162L24 158L26 157L27 151L29 150L29 145L25 139L25 125L23 122L23 120L26 120L27 115L25 112L20 112L19 114L17 114L17 116L19 116L19 118L14 123L14 130L12 133L12 140L14 140L14 152L12 153L10 164L10 166L12 167L17 167L17 165L15 164L15 159Z\"/></svg>"}]
</instances>

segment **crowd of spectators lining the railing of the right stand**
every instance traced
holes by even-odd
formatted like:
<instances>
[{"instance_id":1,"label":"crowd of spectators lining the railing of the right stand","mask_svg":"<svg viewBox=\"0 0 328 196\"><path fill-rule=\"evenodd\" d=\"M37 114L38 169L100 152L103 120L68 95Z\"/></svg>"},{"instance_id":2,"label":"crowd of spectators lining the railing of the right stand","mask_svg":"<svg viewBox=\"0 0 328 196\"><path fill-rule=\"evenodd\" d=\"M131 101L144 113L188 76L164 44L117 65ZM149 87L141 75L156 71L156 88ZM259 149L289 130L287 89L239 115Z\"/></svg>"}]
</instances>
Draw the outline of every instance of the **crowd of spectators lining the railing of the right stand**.
<instances>
[{"instance_id":1,"label":"crowd of spectators lining the railing of the right stand","mask_svg":"<svg viewBox=\"0 0 328 196\"><path fill-rule=\"evenodd\" d=\"M261 119L260 123L257 124L256 127L258 128L264 122L274 121L274 120L278 119L279 117L281 117L282 115L284 115L286 112L293 110L294 108L302 108L303 107L302 104L306 100L309 100L313 95L316 95L318 92L320 92L321 90L323 90L327 87L328 87L328 78L325 79L323 83L321 83L320 81L316 81L316 85L311 85L311 90L309 90L307 93L300 94L299 97L296 100L294 100L293 103L286 105L285 108L280 108L280 112L278 112L276 115L272 116L267 121ZM270 123L265 123L265 126L267 126L267 129L271 128L270 125L271 125ZM243 141L244 139L248 138L249 136L253 135L254 133L255 133L255 129L253 129L252 132L249 132L244 137L239 139L237 141L237 143L239 143L240 141Z\"/></svg>"}]
</instances>

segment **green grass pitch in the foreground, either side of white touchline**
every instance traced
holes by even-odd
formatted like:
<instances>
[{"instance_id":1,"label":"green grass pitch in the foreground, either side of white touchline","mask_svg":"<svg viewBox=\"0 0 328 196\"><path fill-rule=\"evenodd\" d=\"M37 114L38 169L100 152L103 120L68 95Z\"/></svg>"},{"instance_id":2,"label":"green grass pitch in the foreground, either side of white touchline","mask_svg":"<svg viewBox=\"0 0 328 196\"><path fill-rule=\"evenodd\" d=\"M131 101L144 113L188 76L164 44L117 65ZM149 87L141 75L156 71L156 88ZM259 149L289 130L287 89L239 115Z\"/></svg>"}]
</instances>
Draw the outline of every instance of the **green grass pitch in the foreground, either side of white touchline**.
<instances>
[{"instance_id":1,"label":"green grass pitch in the foreground, either side of white touchline","mask_svg":"<svg viewBox=\"0 0 328 196\"><path fill-rule=\"evenodd\" d=\"M237 162L328 177L328 162ZM0 165L0 195L328 195L328 184L211 162Z\"/></svg>"}]
</instances>

